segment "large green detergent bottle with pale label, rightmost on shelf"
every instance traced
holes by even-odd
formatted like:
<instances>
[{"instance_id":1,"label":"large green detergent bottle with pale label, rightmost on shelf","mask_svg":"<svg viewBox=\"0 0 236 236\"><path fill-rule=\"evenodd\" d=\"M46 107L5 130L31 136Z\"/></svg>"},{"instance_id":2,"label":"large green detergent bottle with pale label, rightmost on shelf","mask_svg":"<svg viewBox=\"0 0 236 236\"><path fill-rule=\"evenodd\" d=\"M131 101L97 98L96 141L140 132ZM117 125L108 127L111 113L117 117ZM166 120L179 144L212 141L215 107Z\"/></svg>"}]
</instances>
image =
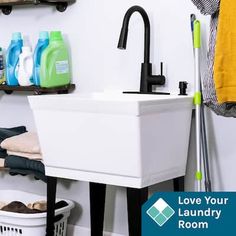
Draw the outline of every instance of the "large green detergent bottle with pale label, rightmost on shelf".
<instances>
[{"instance_id":1,"label":"large green detergent bottle with pale label, rightmost on shelf","mask_svg":"<svg viewBox=\"0 0 236 236\"><path fill-rule=\"evenodd\" d=\"M40 86L52 88L70 83L69 53L60 31L50 33L49 46L43 51Z\"/></svg>"}]
</instances>

